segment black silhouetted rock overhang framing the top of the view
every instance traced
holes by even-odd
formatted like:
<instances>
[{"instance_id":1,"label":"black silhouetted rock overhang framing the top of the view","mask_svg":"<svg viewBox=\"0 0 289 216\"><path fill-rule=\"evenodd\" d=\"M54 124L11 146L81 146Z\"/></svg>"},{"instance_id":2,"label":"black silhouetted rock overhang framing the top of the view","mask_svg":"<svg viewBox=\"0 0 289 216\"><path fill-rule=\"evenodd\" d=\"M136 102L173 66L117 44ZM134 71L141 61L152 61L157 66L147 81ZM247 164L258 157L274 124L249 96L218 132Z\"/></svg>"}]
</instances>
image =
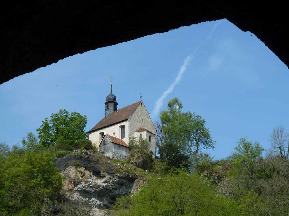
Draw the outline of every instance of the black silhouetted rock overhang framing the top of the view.
<instances>
[{"instance_id":1,"label":"black silhouetted rock overhang framing the top of the view","mask_svg":"<svg viewBox=\"0 0 289 216\"><path fill-rule=\"evenodd\" d=\"M289 66L285 2L6 2L0 7L0 84L77 53L223 18L254 33Z\"/></svg>"}]
</instances>

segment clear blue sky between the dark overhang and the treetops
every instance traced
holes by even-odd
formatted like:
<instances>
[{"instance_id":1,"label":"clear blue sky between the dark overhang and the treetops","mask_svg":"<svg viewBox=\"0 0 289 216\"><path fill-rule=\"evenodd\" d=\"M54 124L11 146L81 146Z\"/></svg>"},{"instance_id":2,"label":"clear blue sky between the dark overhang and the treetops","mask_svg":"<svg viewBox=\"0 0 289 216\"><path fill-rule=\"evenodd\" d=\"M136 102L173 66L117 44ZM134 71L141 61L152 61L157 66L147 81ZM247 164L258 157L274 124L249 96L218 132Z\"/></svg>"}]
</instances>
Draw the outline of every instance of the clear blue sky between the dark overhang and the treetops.
<instances>
[{"instance_id":1,"label":"clear blue sky between the dark overhang and the treetops","mask_svg":"<svg viewBox=\"0 0 289 216\"><path fill-rule=\"evenodd\" d=\"M112 76L118 109L141 92L153 121L173 97L183 111L205 118L216 141L215 150L206 151L215 158L228 156L241 137L268 149L274 127L289 129L288 72L255 35L227 20L181 27L77 54L1 84L0 142L37 135L42 120L59 109L86 115L90 130L105 115Z\"/></svg>"}]
</instances>

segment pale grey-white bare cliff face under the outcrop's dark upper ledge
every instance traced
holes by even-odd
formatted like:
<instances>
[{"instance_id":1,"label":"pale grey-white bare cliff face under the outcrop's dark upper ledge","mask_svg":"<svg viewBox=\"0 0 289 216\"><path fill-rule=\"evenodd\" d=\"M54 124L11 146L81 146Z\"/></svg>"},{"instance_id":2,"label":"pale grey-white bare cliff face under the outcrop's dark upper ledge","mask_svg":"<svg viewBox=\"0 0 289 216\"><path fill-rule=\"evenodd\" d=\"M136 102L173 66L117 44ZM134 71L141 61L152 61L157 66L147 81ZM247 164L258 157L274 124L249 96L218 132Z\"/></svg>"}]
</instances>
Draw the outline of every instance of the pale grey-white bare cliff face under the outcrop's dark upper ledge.
<instances>
[{"instance_id":1,"label":"pale grey-white bare cliff face under the outcrop's dark upper ledge","mask_svg":"<svg viewBox=\"0 0 289 216\"><path fill-rule=\"evenodd\" d=\"M61 174L65 177L63 189L68 199L74 198L79 202L90 201L95 208L109 209L116 198L127 195L134 189L137 179L131 173L106 173L93 175L83 167L70 166Z\"/></svg>"}]
</instances>

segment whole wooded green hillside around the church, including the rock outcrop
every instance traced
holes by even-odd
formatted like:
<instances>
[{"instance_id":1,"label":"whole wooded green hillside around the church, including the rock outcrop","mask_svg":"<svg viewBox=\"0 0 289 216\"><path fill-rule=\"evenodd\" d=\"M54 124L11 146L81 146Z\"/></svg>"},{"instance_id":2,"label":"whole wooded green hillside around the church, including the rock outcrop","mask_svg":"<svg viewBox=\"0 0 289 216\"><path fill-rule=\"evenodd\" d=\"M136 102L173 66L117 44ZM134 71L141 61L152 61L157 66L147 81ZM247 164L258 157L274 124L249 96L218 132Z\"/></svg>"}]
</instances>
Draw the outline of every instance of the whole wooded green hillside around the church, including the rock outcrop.
<instances>
[{"instance_id":1,"label":"whole wooded green hillside around the church, including the rock outcrop","mask_svg":"<svg viewBox=\"0 0 289 216\"><path fill-rule=\"evenodd\" d=\"M83 134L85 118L60 111L42 122L40 144L32 133L22 146L0 143L0 216L288 216L289 132L283 126L268 134L270 149L242 137L231 155L214 160L205 153L217 148L205 120L183 112L173 98L155 123L159 159L147 154L148 141L130 138L131 155L123 162L69 154L93 146L82 135L69 136L69 124L61 122L77 116ZM53 122L59 133L50 133Z\"/></svg>"}]
</instances>

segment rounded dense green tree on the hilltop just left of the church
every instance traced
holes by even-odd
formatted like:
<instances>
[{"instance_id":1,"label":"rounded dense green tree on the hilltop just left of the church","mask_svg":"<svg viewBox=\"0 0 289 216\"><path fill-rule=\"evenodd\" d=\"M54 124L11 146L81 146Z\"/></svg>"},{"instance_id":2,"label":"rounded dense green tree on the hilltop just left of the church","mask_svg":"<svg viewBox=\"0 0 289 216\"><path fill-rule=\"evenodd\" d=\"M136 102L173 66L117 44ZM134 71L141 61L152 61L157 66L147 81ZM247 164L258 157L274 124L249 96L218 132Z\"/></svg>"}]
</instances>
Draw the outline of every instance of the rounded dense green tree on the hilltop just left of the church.
<instances>
[{"instance_id":1,"label":"rounded dense green tree on the hilltop just left of the church","mask_svg":"<svg viewBox=\"0 0 289 216\"><path fill-rule=\"evenodd\" d=\"M43 147L49 147L55 145L57 140L86 139L86 123L85 115L60 109L58 113L52 113L50 119L45 118L37 129L39 143Z\"/></svg>"}]
</instances>

